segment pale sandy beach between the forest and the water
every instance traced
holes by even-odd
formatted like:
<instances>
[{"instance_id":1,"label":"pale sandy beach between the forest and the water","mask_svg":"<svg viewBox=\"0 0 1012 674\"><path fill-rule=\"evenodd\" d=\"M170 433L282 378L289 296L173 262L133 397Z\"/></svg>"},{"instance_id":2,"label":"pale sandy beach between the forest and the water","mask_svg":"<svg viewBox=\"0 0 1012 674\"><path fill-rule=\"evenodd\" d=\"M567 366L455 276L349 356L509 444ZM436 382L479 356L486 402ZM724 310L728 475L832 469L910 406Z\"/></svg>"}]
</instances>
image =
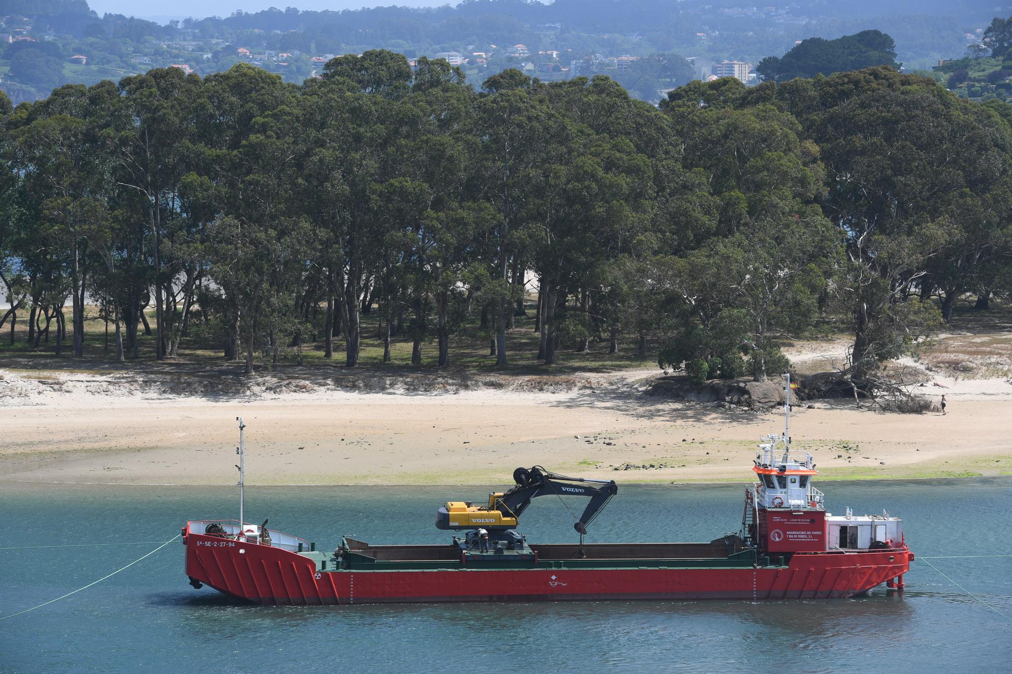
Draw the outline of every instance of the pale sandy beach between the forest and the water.
<instances>
[{"instance_id":1,"label":"pale sandy beach between the forest and the water","mask_svg":"<svg viewBox=\"0 0 1012 674\"><path fill-rule=\"evenodd\" d=\"M360 393L267 375L239 395L195 395L150 377L0 374L8 483L233 484L237 416L249 484L504 484L533 465L620 482L746 482L760 435L783 427L778 411L646 395L653 369L568 377L552 393L516 377ZM795 407L793 445L824 479L1012 473L1012 385L935 382L924 392L946 394L946 416L815 401Z\"/></svg>"}]
</instances>

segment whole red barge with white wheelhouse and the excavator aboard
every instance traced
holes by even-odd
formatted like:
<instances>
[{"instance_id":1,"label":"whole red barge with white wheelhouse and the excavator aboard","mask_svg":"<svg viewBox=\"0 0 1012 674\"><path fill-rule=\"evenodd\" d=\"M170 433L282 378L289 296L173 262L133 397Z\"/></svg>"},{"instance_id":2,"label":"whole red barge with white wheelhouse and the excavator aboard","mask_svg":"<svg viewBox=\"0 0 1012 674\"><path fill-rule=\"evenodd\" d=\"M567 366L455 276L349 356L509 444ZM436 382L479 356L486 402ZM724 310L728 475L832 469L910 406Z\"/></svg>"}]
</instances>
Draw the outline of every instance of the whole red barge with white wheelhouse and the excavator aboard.
<instances>
[{"instance_id":1,"label":"whole red barge with white wheelhouse and the excavator aboard","mask_svg":"<svg viewBox=\"0 0 1012 674\"><path fill-rule=\"evenodd\" d=\"M790 450L786 432L766 436L753 467L758 481L745 490L740 532L709 542L584 544L586 526L617 486L535 467L518 469L516 486L490 495L488 505L439 508L439 528L467 531L446 544L370 545L344 537L325 554L267 529L266 521L194 520L182 529L185 572L195 588L281 605L810 599L851 597L882 583L902 589L914 559L902 521L884 512L826 512L812 485L815 469L811 454ZM547 494L590 498L575 525L580 543L528 543L516 532L530 499Z\"/></svg>"}]
</instances>

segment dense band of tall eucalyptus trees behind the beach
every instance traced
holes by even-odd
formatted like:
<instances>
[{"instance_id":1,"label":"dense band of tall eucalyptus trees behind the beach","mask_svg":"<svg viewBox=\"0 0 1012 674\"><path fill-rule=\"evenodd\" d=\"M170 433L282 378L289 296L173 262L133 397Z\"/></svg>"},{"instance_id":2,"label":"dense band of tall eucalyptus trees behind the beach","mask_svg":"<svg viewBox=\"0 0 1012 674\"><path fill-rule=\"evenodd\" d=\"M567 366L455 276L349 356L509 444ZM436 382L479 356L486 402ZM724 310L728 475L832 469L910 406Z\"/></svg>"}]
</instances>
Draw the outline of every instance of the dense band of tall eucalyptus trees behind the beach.
<instances>
[{"instance_id":1,"label":"dense band of tall eucalyptus trees behind the beach","mask_svg":"<svg viewBox=\"0 0 1012 674\"><path fill-rule=\"evenodd\" d=\"M480 315L504 365L529 292L545 364L631 336L694 380L762 380L825 320L868 387L957 299L1012 286L1012 108L888 67L658 109L602 76L475 91L376 51L302 85L171 68L2 102L0 327L58 353L84 353L90 302L119 359L151 308L158 358L185 337L253 371L340 337L355 366L368 313L385 360L398 332L445 365Z\"/></svg>"}]
</instances>

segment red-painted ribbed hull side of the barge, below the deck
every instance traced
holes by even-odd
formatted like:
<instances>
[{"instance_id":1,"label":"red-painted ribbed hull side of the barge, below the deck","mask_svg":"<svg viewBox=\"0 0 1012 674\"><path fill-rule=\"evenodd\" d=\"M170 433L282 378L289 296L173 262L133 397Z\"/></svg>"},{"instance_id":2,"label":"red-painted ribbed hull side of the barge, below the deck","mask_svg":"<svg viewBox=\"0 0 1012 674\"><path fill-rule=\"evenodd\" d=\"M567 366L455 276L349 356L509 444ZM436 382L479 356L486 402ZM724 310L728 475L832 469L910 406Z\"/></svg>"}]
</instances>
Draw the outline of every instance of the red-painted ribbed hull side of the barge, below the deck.
<instances>
[{"instance_id":1,"label":"red-painted ribbed hull side of the barge, below the deck","mask_svg":"<svg viewBox=\"0 0 1012 674\"><path fill-rule=\"evenodd\" d=\"M850 597L892 585L910 567L904 545L798 553L784 566L738 568L532 568L318 570L279 547L186 532L186 574L261 604L321 605L590 599L809 599ZM648 561L644 562L649 565Z\"/></svg>"}]
</instances>

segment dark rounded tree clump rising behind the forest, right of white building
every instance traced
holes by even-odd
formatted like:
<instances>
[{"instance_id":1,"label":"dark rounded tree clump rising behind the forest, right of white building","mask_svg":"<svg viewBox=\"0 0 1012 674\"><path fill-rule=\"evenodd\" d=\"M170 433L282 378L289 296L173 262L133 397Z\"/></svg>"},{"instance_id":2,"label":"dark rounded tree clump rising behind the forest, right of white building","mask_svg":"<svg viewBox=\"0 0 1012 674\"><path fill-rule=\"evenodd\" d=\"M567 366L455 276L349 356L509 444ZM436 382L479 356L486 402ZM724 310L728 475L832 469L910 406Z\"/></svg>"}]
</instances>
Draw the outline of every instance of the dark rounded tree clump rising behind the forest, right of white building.
<instances>
[{"instance_id":1,"label":"dark rounded tree clump rising behind the forest, right of white building","mask_svg":"<svg viewBox=\"0 0 1012 674\"><path fill-rule=\"evenodd\" d=\"M893 38L879 30L862 30L837 39L810 37L779 59L766 57L756 66L756 72L763 79L782 82L872 66L900 69Z\"/></svg>"}]
</instances>

